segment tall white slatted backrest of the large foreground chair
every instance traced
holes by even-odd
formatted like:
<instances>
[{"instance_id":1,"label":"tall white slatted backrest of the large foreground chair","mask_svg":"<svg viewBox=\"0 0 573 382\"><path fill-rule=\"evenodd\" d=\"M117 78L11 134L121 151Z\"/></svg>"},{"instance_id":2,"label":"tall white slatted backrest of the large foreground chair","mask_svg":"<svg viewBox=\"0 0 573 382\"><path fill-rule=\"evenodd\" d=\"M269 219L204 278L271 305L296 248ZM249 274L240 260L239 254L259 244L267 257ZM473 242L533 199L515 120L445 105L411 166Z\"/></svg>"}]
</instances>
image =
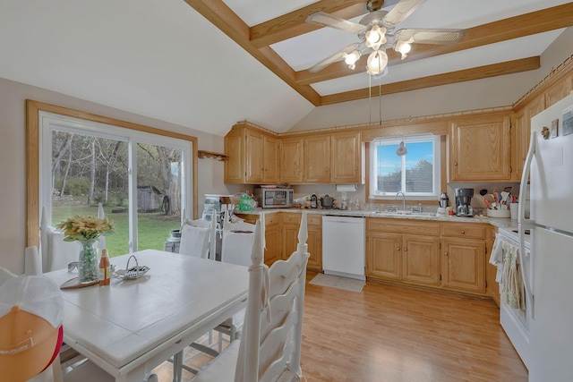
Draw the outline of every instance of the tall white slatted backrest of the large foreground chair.
<instances>
[{"instance_id":1,"label":"tall white slatted backrest of the large foreground chair","mask_svg":"<svg viewBox=\"0 0 573 382\"><path fill-rule=\"evenodd\" d=\"M301 220L297 250L270 268L263 264L261 231L261 221L257 221L235 382L267 382L278 377L299 380L302 374L304 286L309 258L306 213Z\"/></svg>"}]
</instances>

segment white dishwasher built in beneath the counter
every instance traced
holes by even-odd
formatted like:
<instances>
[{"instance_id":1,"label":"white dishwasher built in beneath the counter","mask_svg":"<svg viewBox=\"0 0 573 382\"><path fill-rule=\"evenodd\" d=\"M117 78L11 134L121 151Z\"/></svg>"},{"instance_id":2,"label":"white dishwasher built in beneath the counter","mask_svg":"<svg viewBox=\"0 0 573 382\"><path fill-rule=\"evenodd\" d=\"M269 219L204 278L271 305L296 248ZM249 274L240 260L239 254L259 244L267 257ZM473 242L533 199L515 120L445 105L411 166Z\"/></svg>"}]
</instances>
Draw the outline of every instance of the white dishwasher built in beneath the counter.
<instances>
[{"instance_id":1,"label":"white dishwasher built in beneath the counter","mask_svg":"<svg viewBox=\"0 0 573 382\"><path fill-rule=\"evenodd\" d=\"M364 218L322 216L322 268L327 275L365 280Z\"/></svg>"}]
</instances>

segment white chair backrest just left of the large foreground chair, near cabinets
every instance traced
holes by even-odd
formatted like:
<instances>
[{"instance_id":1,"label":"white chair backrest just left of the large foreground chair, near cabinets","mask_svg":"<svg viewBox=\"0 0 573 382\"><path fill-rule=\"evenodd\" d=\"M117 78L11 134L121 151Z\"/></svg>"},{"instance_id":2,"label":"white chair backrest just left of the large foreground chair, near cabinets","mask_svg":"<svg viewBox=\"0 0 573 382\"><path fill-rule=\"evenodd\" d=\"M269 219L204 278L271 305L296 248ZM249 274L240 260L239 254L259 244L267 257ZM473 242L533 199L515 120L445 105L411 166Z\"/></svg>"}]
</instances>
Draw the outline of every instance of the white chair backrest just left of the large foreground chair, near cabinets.
<instances>
[{"instance_id":1,"label":"white chair backrest just left of the large foreground chair, near cabinets","mask_svg":"<svg viewBox=\"0 0 573 382\"><path fill-rule=\"evenodd\" d=\"M221 261L248 267L252 264L251 253L255 225L245 222L232 223L228 211L223 219Z\"/></svg>"}]
</instances>

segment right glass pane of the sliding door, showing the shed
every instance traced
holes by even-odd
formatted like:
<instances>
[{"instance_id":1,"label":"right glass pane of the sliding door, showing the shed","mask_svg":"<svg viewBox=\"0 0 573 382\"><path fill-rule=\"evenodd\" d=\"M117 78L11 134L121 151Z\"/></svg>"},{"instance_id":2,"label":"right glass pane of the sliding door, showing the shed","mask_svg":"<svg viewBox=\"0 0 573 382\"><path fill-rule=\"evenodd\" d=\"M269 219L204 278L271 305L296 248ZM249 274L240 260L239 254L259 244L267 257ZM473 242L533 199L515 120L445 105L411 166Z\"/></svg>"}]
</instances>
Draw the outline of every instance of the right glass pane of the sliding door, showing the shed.
<instances>
[{"instance_id":1,"label":"right glass pane of the sliding door, showing the shed","mask_svg":"<svg viewBox=\"0 0 573 382\"><path fill-rule=\"evenodd\" d=\"M181 226L183 151L137 144L137 249L165 250Z\"/></svg>"}]
</instances>

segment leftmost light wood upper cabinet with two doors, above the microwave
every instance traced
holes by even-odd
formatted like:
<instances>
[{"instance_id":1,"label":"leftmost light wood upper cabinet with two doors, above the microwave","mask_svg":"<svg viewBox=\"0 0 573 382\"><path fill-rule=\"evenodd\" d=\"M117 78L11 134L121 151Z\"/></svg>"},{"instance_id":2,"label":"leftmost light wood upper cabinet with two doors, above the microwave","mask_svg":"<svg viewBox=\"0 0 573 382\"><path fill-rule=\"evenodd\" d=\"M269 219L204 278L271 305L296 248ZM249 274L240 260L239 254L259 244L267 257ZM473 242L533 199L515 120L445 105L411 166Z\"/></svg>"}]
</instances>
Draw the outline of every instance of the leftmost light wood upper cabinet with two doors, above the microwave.
<instances>
[{"instance_id":1,"label":"leftmost light wood upper cabinet with two doors, above the microwave","mask_svg":"<svg viewBox=\"0 0 573 382\"><path fill-rule=\"evenodd\" d=\"M278 138L235 124L225 136L225 183L278 183Z\"/></svg>"}]
</instances>

